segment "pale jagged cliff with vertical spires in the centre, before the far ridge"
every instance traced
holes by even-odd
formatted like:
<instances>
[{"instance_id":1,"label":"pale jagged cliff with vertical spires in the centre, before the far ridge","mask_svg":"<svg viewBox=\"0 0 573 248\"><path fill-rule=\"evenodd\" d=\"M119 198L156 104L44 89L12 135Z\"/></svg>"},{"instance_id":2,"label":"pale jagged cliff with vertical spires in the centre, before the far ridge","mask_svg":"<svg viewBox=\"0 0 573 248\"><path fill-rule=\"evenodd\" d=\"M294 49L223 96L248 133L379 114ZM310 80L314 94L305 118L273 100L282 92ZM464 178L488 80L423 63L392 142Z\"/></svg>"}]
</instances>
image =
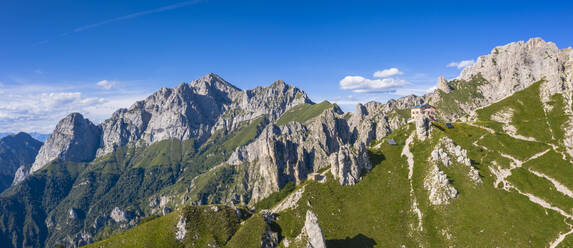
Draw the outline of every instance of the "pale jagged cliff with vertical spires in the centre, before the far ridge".
<instances>
[{"instance_id":1,"label":"pale jagged cliff with vertical spires in the centre, before the far ridge","mask_svg":"<svg viewBox=\"0 0 573 248\"><path fill-rule=\"evenodd\" d=\"M308 126L271 124L254 142L237 148L228 163L247 165L246 191L252 192L247 198L258 201L329 166L341 184L358 182L360 173L371 168L366 147L336 111L325 110Z\"/></svg>"}]
</instances>

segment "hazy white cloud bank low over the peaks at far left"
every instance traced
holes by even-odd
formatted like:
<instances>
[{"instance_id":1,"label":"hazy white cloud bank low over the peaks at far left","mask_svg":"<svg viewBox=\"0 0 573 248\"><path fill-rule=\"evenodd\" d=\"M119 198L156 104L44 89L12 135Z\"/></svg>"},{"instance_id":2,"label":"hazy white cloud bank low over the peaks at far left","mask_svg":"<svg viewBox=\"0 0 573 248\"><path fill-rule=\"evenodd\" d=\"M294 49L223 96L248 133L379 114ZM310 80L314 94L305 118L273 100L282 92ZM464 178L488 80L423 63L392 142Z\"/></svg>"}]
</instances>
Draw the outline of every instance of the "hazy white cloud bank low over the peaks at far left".
<instances>
[{"instance_id":1,"label":"hazy white cloud bank low over the peaks at far left","mask_svg":"<svg viewBox=\"0 0 573 248\"><path fill-rule=\"evenodd\" d=\"M83 90L66 86L0 85L0 92L5 92L0 97L0 130L51 133L72 112L82 113L97 124L115 110L129 107L148 95L141 91L90 95L92 92Z\"/></svg>"}]
</instances>

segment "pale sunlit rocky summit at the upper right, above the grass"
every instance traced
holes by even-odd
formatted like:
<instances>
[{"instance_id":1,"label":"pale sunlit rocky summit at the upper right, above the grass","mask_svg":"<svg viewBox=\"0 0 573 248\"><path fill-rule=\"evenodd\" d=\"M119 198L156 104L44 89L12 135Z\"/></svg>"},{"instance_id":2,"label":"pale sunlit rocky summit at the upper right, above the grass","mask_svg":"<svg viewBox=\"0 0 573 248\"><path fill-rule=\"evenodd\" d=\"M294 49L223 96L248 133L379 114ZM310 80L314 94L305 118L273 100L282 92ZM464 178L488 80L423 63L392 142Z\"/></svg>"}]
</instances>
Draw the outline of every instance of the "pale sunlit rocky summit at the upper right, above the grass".
<instances>
[{"instance_id":1,"label":"pale sunlit rocky summit at the upper right, above the grass","mask_svg":"<svg viewBox=\"0 0 573 248\"><path fill-rule=\"evenodd\" d=\"M488 83L479 86L483 98L472 100L475 108L497 102L533 83L544 80L540 86L540 98L545 111L552 108L551 96L562 94L564 112L568 120L562 127L566 130L563 143L573 155L573 49L558 49L555 43L533 38L527 42L512 42L494 48L490 54L481 56L477 62L465 68L460 79L470 80L481 75ZM510 130L511 131L511 130Z\"/></svg>"}]
</instances>

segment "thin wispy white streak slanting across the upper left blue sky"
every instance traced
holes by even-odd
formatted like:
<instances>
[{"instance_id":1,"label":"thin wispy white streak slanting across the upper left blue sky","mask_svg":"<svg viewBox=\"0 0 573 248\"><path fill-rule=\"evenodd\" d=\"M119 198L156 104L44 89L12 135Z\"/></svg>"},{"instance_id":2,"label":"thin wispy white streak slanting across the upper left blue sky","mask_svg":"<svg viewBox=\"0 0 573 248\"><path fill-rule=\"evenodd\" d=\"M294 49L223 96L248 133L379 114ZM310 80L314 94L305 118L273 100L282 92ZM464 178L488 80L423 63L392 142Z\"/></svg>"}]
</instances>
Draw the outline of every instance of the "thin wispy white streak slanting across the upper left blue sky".
<instances>
[{"instance_id":1,"label":"thin wispy white streak slanting across the upper left blue sky","mask_svg":"<svg viewBox=\"0 0 573 248\"><path fill-rule=\"evenodd\" d=\"M207 0L185 1L185 2L179 2L179 3L175 3L175 4L163 6L163 7L156 8L156 9L150 9L150 10L144 10L144 11L140 11L140 12L135 12L135 13L128 14L128 15L124 15L124 16L119 16L119 17L107 19L107 20L105 20L105 21L101 21L101 22L97 22L97 23L93 23L93 24L88 24L88 25L84 25L84 26L81 26L81 27L77 27L77 28L75 28L74 30L72 30L72 31L70 31L70 32L66 32L66 33L60 34L60 37L68 36L68 35L71 35L71 34L74 34L74 33L83 32L83 31L86 31L86 30L89 30L89 29L93 29L93 28L100 27L100 26L112 24L112 23L114 23L114 22L129 20L129 19L133 19L133 18L145 16L145 15L150 15L150 14L160 13L160 12L164 12L164 11L168 11L168 10L178 9L178 8L182 8L182 7L186 7L186 6L190 6L190 5L199 4L199 3L205 2L205 1L207 1ZM42 44L48 43L49 41L50 41L50 40L42 40L42 41L36 42L34 45L35 45L35 46L37 46L37 45L42 45Z\"/></svg>"}]
</instances>

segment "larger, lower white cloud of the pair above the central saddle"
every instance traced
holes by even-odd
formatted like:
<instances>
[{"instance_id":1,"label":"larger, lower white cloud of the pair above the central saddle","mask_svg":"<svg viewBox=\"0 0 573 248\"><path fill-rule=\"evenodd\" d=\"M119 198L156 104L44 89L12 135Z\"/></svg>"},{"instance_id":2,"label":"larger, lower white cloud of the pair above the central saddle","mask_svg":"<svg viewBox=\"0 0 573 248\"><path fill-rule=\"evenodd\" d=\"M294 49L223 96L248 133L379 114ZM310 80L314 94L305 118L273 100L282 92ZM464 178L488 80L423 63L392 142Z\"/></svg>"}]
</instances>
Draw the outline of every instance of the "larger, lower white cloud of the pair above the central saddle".
<instances>
[{"instance_id":1,"label":"larger, lower white cloud of the pair above the central saddle","mask_svg":"<svg viewBox=\"0 0 573 248\"><path fill-rule=\"evenodd\" d=\"M340 88L356 93L388 92L408 84L396 78L368 79L361 76L346 76L340 80Z\"/></svg>"}]
</instances>

